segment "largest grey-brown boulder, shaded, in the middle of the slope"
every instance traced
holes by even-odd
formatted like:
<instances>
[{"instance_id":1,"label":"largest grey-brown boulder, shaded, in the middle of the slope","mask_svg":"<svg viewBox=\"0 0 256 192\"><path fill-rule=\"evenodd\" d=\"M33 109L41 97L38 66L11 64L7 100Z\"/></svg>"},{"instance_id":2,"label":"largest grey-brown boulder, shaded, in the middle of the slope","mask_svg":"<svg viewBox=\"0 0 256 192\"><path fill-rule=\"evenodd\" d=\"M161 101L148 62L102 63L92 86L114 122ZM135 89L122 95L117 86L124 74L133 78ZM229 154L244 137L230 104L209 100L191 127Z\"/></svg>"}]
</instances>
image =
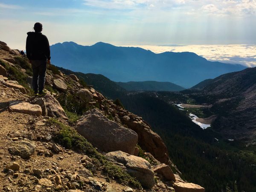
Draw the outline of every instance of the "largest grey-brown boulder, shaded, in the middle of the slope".
<instances>
[{"instance_id":1,"label":"largest grey-brown boulder, shaded, in the middle of the slope","mask_svg":"<svg viewBox=\"0 0 256 192\"><path fill-rule=\"evenodd\" d=\"M138 135L131 129L109 120L98 109L84 113L75 129L101 151L124 151L134 154Z\"/></svg>"}]
</instances>

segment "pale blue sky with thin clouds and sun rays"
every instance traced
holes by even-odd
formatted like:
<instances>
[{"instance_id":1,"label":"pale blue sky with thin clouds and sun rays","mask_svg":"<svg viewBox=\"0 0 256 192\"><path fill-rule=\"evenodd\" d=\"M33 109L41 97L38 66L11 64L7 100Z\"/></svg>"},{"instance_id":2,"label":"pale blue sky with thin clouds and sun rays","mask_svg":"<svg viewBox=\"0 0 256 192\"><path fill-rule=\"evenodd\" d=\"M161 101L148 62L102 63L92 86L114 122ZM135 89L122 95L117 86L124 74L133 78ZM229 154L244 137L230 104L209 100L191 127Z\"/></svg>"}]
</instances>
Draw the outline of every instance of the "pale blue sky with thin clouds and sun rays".
<instances>
[{"instance_id":1,"label":"pale blue sky with thin clouds and sun rays","mask_svg":"<svg viewBox=\"0 0 256 192\"><path fill-rule=\"evenodd\" d=\"M24 49L35 22L50 44L256 44L256 0L0 0L0 41Z\"/></svg>"}]
</instances>

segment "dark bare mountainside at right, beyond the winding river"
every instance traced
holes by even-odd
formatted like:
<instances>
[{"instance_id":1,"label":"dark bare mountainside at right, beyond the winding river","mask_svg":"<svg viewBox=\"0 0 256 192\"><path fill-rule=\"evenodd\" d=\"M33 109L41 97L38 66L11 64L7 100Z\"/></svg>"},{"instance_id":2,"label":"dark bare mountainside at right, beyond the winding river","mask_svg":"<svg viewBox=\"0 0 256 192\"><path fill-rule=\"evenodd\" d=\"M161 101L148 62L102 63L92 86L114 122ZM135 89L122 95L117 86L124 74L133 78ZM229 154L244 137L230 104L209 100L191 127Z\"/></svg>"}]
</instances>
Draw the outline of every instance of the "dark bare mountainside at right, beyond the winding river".
<instances>
[{"instance_id":1,"label":"dark bare mountainside at right, beyond the winding river","mask_svg":"<svg viewBox=\"0 0 256 192\"><path fill-rule=\"evenodd\" d=\"M215 131L230 139L256 144L256 67L208 79L186 90L218 115Z\"/></svg>"}]
</instances>

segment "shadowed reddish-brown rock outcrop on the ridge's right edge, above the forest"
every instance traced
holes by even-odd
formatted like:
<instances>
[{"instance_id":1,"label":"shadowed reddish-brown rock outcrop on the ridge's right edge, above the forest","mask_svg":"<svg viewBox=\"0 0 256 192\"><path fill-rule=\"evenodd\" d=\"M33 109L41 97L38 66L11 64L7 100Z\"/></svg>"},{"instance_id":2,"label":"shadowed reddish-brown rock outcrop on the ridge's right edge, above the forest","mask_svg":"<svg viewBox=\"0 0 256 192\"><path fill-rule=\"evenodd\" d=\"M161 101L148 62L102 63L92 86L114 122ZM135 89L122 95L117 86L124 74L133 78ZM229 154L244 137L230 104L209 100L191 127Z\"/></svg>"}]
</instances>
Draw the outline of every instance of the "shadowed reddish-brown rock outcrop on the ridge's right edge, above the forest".
<instances>
[{"instance_id":1,"label":"shadowed reddish-brown rock outcrop on the ridge's right edge, above the forest","mask_svg":"<svg viewBox=\"0 0 256 192\"><path fill-rule=\"evenodd\" d=\"M145 151L151 153L161 163L168 163L169 156L166 145L163 143L162 138L151 130L149 125L141 121L125 121L123 123L129 129L134 130L139 138L139 145Z\"/></svg>"}]
</instances>

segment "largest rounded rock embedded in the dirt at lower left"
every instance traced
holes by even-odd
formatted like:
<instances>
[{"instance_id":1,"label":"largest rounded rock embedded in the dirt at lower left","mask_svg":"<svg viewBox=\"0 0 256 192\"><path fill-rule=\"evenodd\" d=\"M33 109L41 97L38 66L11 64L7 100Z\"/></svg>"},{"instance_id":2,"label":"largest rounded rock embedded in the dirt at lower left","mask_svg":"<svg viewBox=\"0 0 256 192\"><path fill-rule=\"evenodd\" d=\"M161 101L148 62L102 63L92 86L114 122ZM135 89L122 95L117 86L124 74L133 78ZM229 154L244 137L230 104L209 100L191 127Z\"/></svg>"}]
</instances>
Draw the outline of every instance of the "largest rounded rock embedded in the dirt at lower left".
<instances>
[{"instance_id":1,"label":"largest rounded rock embedded in the dirt at lower left","mask_svg":"<svg viewBox=\"0 0 256 192\"><path fill-rule=\"evenodd\" d=\"M21 158L29 158L35 152L35 145L30 141L15 141L9 147L9 153L18 155Z\"/></svg>"}]
</instances>

